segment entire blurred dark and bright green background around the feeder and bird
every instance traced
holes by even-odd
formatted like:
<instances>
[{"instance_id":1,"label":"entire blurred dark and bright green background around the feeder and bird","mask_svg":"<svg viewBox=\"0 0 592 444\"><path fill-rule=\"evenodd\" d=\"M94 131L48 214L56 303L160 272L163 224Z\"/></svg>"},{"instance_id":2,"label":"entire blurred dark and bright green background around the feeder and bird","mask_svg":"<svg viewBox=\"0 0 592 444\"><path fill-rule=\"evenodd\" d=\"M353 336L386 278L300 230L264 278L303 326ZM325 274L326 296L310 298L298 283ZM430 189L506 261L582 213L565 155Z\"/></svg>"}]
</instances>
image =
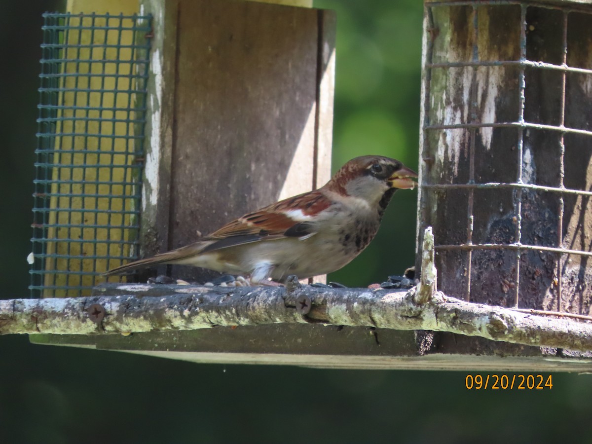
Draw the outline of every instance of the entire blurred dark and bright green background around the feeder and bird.
<instances>
[{"instance_id":1,"label":"entire blurred dark and bright green background around the feeder and bird","mask_svg":"<svg viewBox=\"0 0 592 444\"><path fill-rule=\"evenodd\" d=\"M319 0L336 9L334 169L376 153L417 168L422 2ZM1 298L27 297L41 12L0 14ZM414 261L416 191L330 278L380 282ZM474 374L474 372L472 372ZM0 443L590 442L590 375L552 390L468 391L466 372L198 365L0 337Z\"/></svg>"}]
</instances>

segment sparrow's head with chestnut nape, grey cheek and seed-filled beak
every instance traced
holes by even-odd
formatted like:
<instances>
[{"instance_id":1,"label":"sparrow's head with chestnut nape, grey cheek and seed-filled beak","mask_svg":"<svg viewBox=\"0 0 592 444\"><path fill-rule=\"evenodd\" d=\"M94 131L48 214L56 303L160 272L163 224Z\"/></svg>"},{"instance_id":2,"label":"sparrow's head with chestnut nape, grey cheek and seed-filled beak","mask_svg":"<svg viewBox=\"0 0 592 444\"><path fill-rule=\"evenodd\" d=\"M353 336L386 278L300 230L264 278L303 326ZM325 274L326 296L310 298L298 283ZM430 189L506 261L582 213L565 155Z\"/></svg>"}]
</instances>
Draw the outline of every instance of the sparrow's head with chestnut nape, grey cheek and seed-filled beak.
<instances>
[{"instance_id":1,"label":"sparrow's head with chestnut nape, grey cheek and seed-filled beak","mask_svg":"<svg viewBox=\"0 0 592 444\"><path fill-rule=\"evenodd\" d=\"M396 159L361 156L343 165L325 186L343 196L386 207L398 188L414 188L413 179L417 179L417 173Z\"/></svg>"}]
</instances>

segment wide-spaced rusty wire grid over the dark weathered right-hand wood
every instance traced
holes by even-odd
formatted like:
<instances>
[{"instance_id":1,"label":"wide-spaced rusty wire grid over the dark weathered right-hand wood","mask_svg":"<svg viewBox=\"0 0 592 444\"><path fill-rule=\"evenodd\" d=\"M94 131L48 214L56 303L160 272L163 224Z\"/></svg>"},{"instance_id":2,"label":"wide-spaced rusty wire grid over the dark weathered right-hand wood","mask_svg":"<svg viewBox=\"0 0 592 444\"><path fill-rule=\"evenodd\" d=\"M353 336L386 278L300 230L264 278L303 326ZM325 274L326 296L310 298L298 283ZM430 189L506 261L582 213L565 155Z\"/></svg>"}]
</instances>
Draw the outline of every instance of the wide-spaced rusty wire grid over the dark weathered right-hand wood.
<instances>
[{"instance_id":1,"label":"wide-spaced rusty wire grid over the dark weathered right-hand wood","mask_svg":"<svg viewBox=\"0 0 592 444\"><path fill-rule=\"evenodd\" d=\"M478 15L480 8L482 7L497 7L497 6L508 6L508 5L517 5L520 8L520 54L519 60L480 60L478 57L478 34L479 34L479 20ZM592 131L585 130L583 128L573 128L573 127L566 127L565 126L565 109L566 109L566 102L565 102L565 92L566 92L566 78L568 73L579 73L583 75L592 76L592 69L585 69L583 67L572 67L568 66L567 64L567 55L568 55L568 27L570 24L570 14L577 12L578 14L590 14L592 19L592 9L590 6L585 5L575 5L575 4L564 4L564 5L557 5L557 4L548 4L548 3L540 3L540 2L528 2L528 1L506 1L506 0L480 0L480 1L455 1L455 2L426 2L425 6L425 17L427 23L427 31L428 33L437 32L435 30L433 24L433 11L436 8L442 7L472 7L472 31L474 33L473 36L473 45L471 48L471 59L470 60L461 60L461 61L454 61L454 62L443 62L443 63L432 63L432 42L434 36L432 38L427 38L427 52L426 52L426 63L424 64L424 69L426 75L424 77L424 88L426 89L426 94L424 95L425 102L423 104L424 108L424 121L422 126L423 131L423 138L426 139L427 135L431 131L444 131L444 130L455 130L455 129L464 129L468 130L470 133L470 140L471 143L468 147L468 157L469 157L469 171L468 171L468 181L466 183L459 183L459 184L422 184L422 188L425 189L428 193L435 193L439 191L447 191L452 189L457 190L465 190L467 195L467 213L466 213L466 241L464 243L459 244L452 244L452 243L443 243L443 244L436 244L435 249L436 251L458 251L458 252L465 252L467 258L467 270L466 270L466 287L465 287L465 299L471 300L471 267L473 265L472 255L475 250L508 250L515 252L515 266L514 266L514 281L515 285L513 285L514 289L514 307L519 307L519 289L520 289L520 263L521 257L523 253L526 251L535 250L537 252L552 252L556 254L556 272L557 272L557 292L558 292L558 311L564 310L565 307L562 307L562 260L565 259L566 255L578 255L583 257L592 257L592 252L584 251L584 250L576 250L576 249L567 249L564 247L564 195L577 195L581 197L590 197L592 196L591 191L586 191L585 189L570 189L566 188L564 185L564 159L565 159L565 143L564 143L564 136L565 134L578 134L580 136L591 137ZM561 11L562 13L562 41L561 41L561 54L562 60L560 64L554 63L547 63L547 62L540 62L538 60L528 60L526 57L526 48L527 48L527 11L529 8L544 8L544 9L554 9L557 11ZM475 121L475 103L477 91L475 88L471 88L469 91L469 113L470 121L466 121L464 123L459 124L431 124L428 117L428 110L430 108L430 79L432 75L432 70L436 68L443 68L443 69L452 69L455 67L470 67L472 68L473 78L476 75L478 67L517 67L519 75L518 75L518 83L519 83L519 98L518 98L518 118L516 121L506 121L506 122L480 122ZM541 124L541 123L533 123L525 120L525 91L527 88L527 79L525 70L526 69L536 69L536 70L552 70L561 73L561 85L559 86L561 95L559 99L559 122L556 125L552 124ZM472 82L474 85L475 82ZM475 181L475 132L480 128L516 128L516 165L517 165L517 175L516 180L514 182L508 183L501 183L501 182L487 182L487 183L478 183ZM523 142L525 140L525 131L533 130L533 131L556 131L559 133L559 144L561 146L561 155L560 161L556 168L558 169L560 183L559 186L547 186L547 185L537 185L537 184L530 184L525 181L524 174L523 174L523 165L525 162L524 159L524 152L523 152ZM592 143L592 139L590 139ZM433 158L429 157L422 153L424 162L431 163L433 162ZM512 162L513 160L509 160ZM583 184L584 188L585 184ZM514 221L515 221L515 233L514 233L514 242L512 243L473 243L473 233L474 233L474 202L475 202L475 191L481 189L511 189L513 191L513 202L514 202ZM523 229L522 229L522 203L523 203L523 192L526 190L529 191L544 191L544 192L551 192L558 195L558 222L557 222L557 239L555 246L542 246L538 244L527 244L522 243L523 239ZM429 220L429 215L427 214L427 207L424 205L422 207L422 217L423 220ZM436 239L437 241L438 239Z\"/></svg>"}]
</instances>

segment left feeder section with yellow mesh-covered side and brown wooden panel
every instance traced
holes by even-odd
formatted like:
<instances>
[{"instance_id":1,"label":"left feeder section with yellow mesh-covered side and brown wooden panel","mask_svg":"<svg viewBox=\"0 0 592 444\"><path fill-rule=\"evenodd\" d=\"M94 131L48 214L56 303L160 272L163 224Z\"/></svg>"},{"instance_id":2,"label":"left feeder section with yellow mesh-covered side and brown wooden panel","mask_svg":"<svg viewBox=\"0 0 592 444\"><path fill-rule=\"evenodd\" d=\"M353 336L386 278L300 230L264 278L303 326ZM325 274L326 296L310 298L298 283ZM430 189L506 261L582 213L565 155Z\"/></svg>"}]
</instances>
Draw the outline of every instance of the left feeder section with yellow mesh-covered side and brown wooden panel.
<instances>
[{"instance_id":1,"label":"left feeder section with yellow mesh-covered side and brown wooden panel","mask_svg":"<svg viewBox=\"0 0 592 444\"><path fill-rule=\"evenodd\" d=\"M100 275L330 178L329 11L232 0L128 2L139 14L126 15L91 6L44 14L33 297L126 282ZM213 273L173 267L172 276Z\"/></svg>"}]
</instances>

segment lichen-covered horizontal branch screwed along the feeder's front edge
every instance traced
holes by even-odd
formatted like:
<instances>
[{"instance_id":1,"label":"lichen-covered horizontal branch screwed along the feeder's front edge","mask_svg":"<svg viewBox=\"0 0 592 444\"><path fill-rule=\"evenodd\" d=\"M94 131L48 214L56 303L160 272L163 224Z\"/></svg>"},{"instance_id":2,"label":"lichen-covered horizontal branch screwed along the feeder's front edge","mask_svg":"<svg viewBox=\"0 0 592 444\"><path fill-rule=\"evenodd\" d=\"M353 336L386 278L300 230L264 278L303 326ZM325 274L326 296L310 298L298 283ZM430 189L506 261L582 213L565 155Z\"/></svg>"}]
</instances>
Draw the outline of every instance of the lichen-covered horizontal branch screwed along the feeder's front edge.
<instances>
[{"instance_id":1,"label":"lichen-covered horizontal branch screwed along the feeder's front edge","mask_svg":"<svg viewBox=\"0 0 592 444\"><path fill-rule=\"evenodd\" d=\"M113 284L85 298L0 301L0 334L113 334L214 326L323 323L396 330L433 330L524 345L592 350L592 325L519 313L446 297L424 304L408 291L363 288L198 287ZM302 295L307 314L297 311ZM98 305L95 305L98 304ZM101 307L92 316L92 307Z\"/></svg>"}]
</instances>

